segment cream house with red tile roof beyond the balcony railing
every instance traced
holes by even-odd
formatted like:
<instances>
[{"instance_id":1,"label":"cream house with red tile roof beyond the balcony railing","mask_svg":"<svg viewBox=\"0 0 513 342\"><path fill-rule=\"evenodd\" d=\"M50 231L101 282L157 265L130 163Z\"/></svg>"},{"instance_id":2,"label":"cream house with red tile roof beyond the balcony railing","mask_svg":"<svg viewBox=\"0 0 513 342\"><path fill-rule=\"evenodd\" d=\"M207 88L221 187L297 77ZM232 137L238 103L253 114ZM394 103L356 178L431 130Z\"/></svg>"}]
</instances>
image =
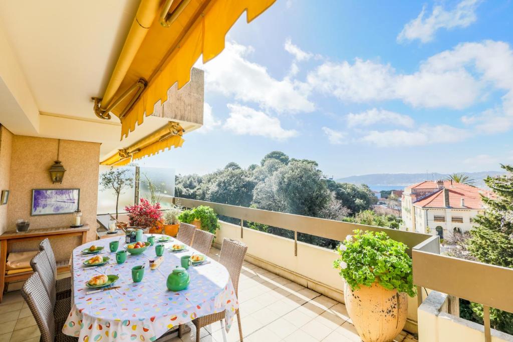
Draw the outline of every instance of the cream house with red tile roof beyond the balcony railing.
<instances>
[{"instance_id":1,"label":"cream house with red tile roof beyond the balcony railing","mask_svg":"<svg viewBox=\"0 0 513 342\"><path fill-rule=\"evenodd\" d=\"M451 180L410 185L402 194L404 228L441 238L468 232L472 219L484 212L481 196L493 193Z\"/></svg>"}]
</instances>

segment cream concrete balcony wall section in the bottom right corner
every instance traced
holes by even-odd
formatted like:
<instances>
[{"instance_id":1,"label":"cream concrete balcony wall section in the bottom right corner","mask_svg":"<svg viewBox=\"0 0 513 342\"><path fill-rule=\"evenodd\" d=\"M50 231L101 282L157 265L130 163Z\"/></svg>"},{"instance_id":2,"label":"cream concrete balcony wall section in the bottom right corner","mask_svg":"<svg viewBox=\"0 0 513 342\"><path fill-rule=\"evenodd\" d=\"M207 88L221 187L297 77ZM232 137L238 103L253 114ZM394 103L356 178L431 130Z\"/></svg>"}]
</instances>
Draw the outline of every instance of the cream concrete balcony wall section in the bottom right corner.
<instances>
[{"instance_id":1,"label":"cream concrete balcony wall section in the bottom right corner","mask_svg":"<svg viewBox=\"0 0 513 342\"><path fill-rule=\"evenodd\" d=\"M419 307L420 342L482 342L484 327L447 313L447 295L431 291ZM513 341L513 336L491 329L491 341Z\"/></svg>"}]
</instances>

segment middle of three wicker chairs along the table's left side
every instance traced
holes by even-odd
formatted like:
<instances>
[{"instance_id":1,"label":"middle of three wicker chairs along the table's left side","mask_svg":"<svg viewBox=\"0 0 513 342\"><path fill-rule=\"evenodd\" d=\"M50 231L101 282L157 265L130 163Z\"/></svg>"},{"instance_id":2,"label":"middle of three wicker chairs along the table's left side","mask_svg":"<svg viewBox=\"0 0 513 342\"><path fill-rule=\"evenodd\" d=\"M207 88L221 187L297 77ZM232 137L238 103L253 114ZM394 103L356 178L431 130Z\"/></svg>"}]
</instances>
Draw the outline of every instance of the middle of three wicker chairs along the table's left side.
<instances>
[{"instance_id":1,"label":"middle of three wicker chairs along the table's left side","mask_svg":"<svg viewBox=\"0 0 513 342\"><path fill-rule=\"evenodd\" d=\"M35 273L38 273L42 281L43 287L48 295L50 304L53 308L53 315L56 320L65 320L71 310L71 298L63 298L56 300L55 297L55 276L52 272L52 267L48 261L45 251L37 253L36 256L30 260L30 267ZM64 322L63 322L64 323Z\"/></svg>"}]
</instances>

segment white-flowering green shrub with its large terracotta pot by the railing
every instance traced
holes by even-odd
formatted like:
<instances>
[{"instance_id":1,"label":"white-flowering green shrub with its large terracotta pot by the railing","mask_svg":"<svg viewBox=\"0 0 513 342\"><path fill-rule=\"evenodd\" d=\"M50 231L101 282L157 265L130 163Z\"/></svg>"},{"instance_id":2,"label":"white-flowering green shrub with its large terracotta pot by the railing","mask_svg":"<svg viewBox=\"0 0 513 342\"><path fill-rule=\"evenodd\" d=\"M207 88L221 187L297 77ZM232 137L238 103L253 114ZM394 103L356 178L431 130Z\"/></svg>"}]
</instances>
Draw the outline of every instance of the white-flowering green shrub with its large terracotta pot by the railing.
<instances>
[{"instance_id":1,"label":"white-flowering green shrub with its large terracotta pot by the railing","mask_svg":"<svg viewBox=\"0 0 513 342\"><path fill-rule=\"evenodd\" d=\"M340 244L333 267L344 277L349 317L364 342L389 342L403 330L415 296L408 247L384 232L355 230Z\"/></svg>"}]
</instances>

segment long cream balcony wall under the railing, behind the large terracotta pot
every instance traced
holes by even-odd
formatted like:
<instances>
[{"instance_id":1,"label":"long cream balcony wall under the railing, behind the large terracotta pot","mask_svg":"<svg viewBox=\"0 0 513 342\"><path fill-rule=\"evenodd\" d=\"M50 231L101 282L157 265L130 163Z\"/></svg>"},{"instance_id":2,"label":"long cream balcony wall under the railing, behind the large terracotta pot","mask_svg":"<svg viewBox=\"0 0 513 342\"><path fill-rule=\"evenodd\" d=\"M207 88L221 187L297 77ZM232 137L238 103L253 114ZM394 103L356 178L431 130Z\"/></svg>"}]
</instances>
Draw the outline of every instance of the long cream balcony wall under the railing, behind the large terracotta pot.
<instances>
[{"instance_id":1,"label":"long cream balcony wall under the railing, behind the large terracotta pot","mask_svg":"<svg viewBox=\"0 0 513 342\"><path fill-rule=\"evenodd\" d=\"M338 254L332 250L298 242L298 255L294 256L294 240L261 231L220 222L215 246L221 248L223 238L240 240L248 246L246 260L278 274L315 292L344 303L344 280L333 260ZM404 330L417 333L417 297L408 300L408 320Z\"/></svg>"}]
</instances>

